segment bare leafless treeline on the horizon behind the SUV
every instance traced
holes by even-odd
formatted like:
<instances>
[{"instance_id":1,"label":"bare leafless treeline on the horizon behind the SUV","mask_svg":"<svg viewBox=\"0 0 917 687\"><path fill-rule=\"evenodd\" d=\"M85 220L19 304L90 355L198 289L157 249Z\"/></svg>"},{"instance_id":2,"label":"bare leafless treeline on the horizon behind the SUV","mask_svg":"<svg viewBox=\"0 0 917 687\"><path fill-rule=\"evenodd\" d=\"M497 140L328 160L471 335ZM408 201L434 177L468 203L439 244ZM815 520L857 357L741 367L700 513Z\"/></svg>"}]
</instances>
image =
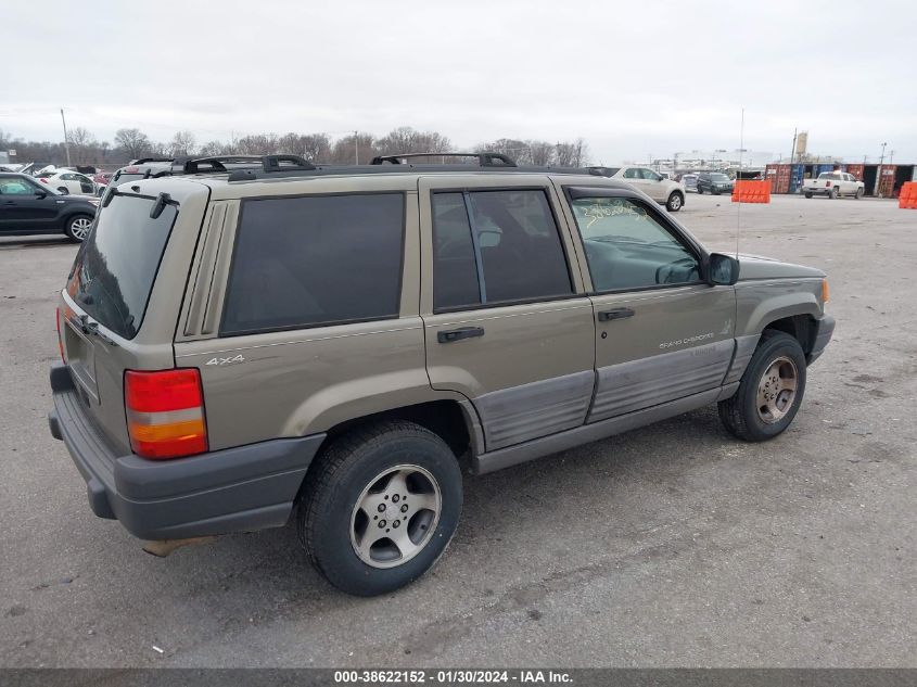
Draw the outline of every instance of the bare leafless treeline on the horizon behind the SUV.
<instances>
[{"instance_id":1,"label":"bare leafless treeline on the horizon behind the SUV","mask_svg":"<svg viewBox=\"0 0 917 687\"><path fill-rule=\"evenodd\" d=\"M140 129L118 129L113 142L99 141L92 132L77 127L68 132L71 163L113 167L139 157L175 157L180 155L270 155L288 153L328 164L367 163L375 155L396 153L481 152L504 153L522 165L558 165L580 167L587 164L588 149L582 138L551 143L509 138L482 142L473 151L456 151L448 137L436 131L418 131L398 127L381 138L354 132L343 138L327 133L256 133L230 141L199 143L192 131L178 131L170 141L154 141ZM11 162L66 163L64 144L50 141L25 141L0 130L0 150L15 150Z\"/></svg>"}]
</instances>

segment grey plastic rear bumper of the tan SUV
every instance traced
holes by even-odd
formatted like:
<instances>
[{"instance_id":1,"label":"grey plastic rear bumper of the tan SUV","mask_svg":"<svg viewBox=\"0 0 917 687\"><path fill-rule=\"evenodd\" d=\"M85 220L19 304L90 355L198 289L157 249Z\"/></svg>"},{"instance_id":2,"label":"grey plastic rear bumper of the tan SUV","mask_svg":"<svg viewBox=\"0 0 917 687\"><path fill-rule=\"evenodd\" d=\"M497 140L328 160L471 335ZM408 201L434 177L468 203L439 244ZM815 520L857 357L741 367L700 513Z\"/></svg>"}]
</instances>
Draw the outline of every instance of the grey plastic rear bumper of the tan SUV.
<instances>
[{"instance_id":1,"label":"grey plastic rear bumper of the tan SUV","mask_svg":"<svg viewBox=\"0 0 917 687\"><path fill-rule=\"evenodd\" d=\"M278 438L175 460L117 456L82 409L69 371L51 369L51 435L86 481L89 505L142 539L281 526L324 434Z\"/></svg>"}]
</instances>

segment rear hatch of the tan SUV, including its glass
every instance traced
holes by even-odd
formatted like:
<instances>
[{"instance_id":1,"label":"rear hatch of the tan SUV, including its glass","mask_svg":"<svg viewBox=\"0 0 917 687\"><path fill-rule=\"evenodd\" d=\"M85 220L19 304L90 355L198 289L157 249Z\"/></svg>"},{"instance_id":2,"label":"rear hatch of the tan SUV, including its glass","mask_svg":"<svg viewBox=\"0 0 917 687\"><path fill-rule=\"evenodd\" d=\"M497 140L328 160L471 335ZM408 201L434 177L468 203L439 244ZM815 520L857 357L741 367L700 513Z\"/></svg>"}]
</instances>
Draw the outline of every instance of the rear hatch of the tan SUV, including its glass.
<instances>
[{"instance_id":1,"label":"rear hatch of the tan SUV, including its glass","mask_svg":"<svg viewBox=\"0 0 917 687\"><path fill-rule=\"evenodd\" d=\"M125 370L175 367L175 327L208 194L189 179L119 190L100 208L61 293L64 360L117 455L130 451Z\"/></svg>"}]
</instances>

